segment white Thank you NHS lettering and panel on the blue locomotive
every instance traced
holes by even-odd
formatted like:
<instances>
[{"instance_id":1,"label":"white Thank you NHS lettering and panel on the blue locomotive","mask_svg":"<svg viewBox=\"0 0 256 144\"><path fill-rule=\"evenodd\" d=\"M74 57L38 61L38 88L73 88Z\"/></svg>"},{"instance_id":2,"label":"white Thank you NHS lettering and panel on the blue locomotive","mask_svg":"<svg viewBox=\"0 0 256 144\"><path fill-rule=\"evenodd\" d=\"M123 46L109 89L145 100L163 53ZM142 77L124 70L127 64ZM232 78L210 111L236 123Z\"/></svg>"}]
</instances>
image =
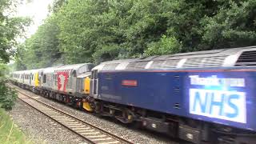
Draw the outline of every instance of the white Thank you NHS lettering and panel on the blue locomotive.
<instances>
[{"instance_id":1,"label":"white Thank you NHS lettering and panel on the blue locomotive","mask_svg":"<svg viewBox=\"0 0 256 144\"><path fill-rule=\"evenodd\" d=\"M215 83L211 82L211 84L216 85L216 83L220 81L223 81L223 80L218 80ZM235 83L232 84L231 81ZM231 81L229 79L230 85L242 86L242 84L238 82L240 81L238 79L231 80ZM229 120L233 122L246 123L246 93L245 92L229 91L226 89L225 90L209 90L209 88L207 88L206 90L203 88L202 89L195 88L195 89L190 89L189 93L190 93L190 114L197 114L197 115L202 115L210 118L220 118L220 119Z\"/></svg>"}]
</instances>

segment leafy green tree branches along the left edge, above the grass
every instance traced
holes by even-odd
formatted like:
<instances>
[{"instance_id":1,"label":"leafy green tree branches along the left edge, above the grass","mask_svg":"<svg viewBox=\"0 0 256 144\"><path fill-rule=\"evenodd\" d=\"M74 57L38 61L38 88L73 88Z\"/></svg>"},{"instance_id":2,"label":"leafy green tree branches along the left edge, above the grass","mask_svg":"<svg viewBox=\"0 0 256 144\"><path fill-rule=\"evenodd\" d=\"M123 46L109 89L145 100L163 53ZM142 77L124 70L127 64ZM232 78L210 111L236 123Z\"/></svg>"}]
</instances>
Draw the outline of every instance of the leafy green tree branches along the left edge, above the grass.
<instances>
[{"instance_id":1,"label":"leafy green tree branches along the left edge, above the grass","mask_svg":"<svg viewBox=\"0 0 256 144\"><path fill-rule=\"evenodd\" d=\"M30 23L29 18L17 18L11 15L16 0L0 0L0 107L10 110L14 106L16 94L6 86L6 74L9 73L6 63L14 55L16 38L22 36L25 27Z\"/></svg>"}]
</instances>

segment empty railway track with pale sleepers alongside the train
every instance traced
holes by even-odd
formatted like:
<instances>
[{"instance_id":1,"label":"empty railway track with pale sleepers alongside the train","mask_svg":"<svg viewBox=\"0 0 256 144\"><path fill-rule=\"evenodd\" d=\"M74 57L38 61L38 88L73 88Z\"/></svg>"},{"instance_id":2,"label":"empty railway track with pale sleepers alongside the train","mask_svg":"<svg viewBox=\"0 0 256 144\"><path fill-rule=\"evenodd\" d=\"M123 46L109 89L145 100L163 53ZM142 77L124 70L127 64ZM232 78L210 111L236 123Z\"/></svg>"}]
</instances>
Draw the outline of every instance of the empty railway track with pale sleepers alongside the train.
<instances>
[{"instance_id":1,"label":"empty railway track with pale sleepers alongside the train","mask_svg":"<svg viewBox=\"0 0 256 144\"><path fill-rule=\"evenodd\" d=\"M13 86L10 87L14 88ZM85 122L80 118L76 118L74 115L67 114L63 110L59 110L45 102L41 102L36 99L36 97L31 97L30 95L24 94L22 93L22 91L19 90L17 91L19 93L18 98L21 99L23 102L26 102L26 104L32 106L34 109L40 111L42 114L45 114L47 117L53 119L55 122L58 122L60 125L65 126L67 129L73 131L75 134L78 134L87 142L98 144L132 143L124 138L120 138L117 135L111 134L106 130L102 130L98 126L91 125L90 123Z\"/></svg>"}]
</instances>

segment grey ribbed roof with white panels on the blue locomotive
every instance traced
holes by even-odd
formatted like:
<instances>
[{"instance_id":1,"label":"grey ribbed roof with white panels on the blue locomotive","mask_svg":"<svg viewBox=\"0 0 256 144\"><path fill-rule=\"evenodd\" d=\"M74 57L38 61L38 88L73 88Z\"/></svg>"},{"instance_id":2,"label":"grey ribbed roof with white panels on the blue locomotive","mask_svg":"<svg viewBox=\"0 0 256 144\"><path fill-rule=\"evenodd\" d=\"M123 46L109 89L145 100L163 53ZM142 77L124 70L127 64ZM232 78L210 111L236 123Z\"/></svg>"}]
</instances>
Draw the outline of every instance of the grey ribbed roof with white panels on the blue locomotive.
<instances>
[{"instance_id":1,"label":"grey ribbed roof with white panels on the blue locomotive","mask_svg":"<svg viewBox=\"0 0 256 144\"><path fill-rule=\"evenodd\" d=\"M93 70L182 69L220 66L256 66L256 46L114 60L102 62Z\"/></svg>"}]
</instances>

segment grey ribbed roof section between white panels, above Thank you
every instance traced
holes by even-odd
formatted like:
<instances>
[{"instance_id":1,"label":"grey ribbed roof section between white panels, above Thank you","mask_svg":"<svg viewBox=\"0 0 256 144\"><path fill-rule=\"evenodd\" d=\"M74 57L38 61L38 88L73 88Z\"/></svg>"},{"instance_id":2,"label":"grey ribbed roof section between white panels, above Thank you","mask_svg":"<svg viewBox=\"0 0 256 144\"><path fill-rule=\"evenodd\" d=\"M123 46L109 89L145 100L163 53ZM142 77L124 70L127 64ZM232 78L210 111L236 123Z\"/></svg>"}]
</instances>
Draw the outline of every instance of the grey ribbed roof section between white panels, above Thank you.
<instances>
[{"instance_id":1,"label":"grey ribbed roof section between white panels, above Thank you","mask_svg":"<svg viewBox=\"0 0 256 144\"><path fill-rule=\"evenodd\" d=\"M226 56L188 58L182 67L218 67L222 66Z\"/></svg>"}]
</instances>

